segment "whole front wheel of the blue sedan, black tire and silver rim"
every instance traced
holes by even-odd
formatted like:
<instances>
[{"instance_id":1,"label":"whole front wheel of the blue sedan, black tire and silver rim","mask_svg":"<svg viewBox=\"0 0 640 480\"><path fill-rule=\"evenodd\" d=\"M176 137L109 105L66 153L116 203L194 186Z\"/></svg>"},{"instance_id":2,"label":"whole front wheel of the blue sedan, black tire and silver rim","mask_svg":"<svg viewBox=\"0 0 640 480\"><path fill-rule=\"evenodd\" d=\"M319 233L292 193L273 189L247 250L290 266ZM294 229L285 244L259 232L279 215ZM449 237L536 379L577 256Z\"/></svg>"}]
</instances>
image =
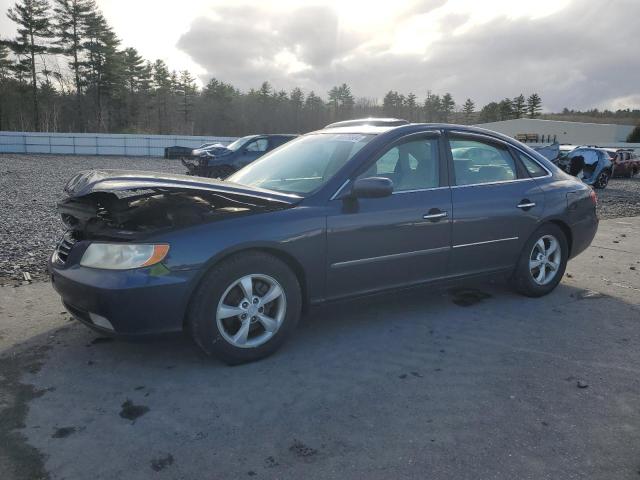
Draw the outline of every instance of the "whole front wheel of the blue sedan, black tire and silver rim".
<instances>
[{"instance_id":1,"label":"whole front wheel of the blue sedan, black tire and silver rim","mask_svg":"<svg viewBox=\"0 0 640 480\"><path fill-rule=\"evenodd\" d=\"M263 303L278 288L282 294ZM206 354L238 365L274 353L295 329L301 305L300 284L291 269L272 255L248 251L206 273L191 299L187 327Z\"/></svg>"}]
</instances>

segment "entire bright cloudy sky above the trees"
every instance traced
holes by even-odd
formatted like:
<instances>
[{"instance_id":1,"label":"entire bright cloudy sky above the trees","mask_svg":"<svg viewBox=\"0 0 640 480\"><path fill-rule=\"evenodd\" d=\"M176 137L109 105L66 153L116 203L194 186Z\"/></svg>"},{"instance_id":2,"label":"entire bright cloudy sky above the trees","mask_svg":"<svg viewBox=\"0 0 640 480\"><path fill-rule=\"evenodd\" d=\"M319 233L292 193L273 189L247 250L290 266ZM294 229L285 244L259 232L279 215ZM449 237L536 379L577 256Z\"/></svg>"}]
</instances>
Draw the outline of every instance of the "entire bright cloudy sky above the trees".
<instances>
[{"instance_id":1,"label":"entire bright cloudy sky above the trees","mask_svg":"<svg viewBox=\"0 0 640 480\"><path fill-rule=\"evenodd\" d=\"M546 110L640 107L640 0L98 3L124 45L204 82L322 95L346 82L357 96L431 90L479 105L537 91Z\"/></svg>"}]
</instances>

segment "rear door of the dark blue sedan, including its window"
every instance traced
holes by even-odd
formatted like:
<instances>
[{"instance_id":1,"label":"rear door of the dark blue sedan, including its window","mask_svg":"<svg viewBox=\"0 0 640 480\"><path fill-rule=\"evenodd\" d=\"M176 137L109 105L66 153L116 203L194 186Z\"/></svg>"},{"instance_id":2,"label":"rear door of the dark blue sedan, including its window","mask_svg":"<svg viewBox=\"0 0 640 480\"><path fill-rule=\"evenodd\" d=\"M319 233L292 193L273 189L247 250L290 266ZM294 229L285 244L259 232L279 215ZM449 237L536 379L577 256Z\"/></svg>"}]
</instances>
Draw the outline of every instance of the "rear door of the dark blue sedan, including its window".
<instances>
[{"instance_id":1,"label":"rear door of the dark blue sedan, including its window","mask_svg":"<svg viewBox=\"0 0 640 480\"><path fill-rule=\"evenodd\" d=\"M488 272L515 265L544 211L544 193L506 143L476 134L447 136L452 180L450 273ZM525 155L526 157L526 155Z\"/></svg>"}]
</instances>

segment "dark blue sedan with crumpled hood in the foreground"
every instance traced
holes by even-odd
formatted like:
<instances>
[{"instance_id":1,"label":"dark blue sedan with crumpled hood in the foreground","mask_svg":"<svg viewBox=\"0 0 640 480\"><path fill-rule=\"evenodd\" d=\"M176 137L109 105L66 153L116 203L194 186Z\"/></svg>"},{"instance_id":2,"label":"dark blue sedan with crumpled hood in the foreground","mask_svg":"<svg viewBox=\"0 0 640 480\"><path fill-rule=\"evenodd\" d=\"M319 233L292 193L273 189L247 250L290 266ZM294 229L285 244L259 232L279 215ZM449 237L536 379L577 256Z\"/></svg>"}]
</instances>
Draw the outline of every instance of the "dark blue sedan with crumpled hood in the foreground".
<instances>
[{"instance_id":1,"label":"dark blue sedan with crumpled hood in the foreground","mask_svg":"<svg viewBox=\"0 0 640 480\"><path fill-rule=\"evenodd\" d=\"M440 124L303 135L228 181L87 171L52 284L105 334L186 330L239 363L330 300L478 275L537 297L598 226L593 190L506 136Z\"/></svg>"}]
</instances>

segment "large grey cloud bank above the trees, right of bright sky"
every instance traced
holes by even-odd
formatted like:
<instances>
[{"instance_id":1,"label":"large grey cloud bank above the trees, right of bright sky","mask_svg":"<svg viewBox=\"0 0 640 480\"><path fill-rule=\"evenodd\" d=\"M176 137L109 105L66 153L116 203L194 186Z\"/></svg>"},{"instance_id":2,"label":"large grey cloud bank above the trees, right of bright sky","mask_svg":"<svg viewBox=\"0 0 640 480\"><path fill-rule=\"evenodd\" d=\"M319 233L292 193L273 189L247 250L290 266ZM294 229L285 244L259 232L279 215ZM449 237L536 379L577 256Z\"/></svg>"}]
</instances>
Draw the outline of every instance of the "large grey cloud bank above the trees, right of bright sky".
<instances>
[{"instance_id":1,"label":"large grey cloud bank above the trees, right of bright sky","mask_svg":"<svg viewBox=\"0 0 640 480\"><path fill-rule=\"evenodd\" d=\"M377 98L390 89L420 97L431 90L481 105L535 91L551 110L639 106L640 62L626 21L640 15L636 0L573 0L545 17L475 23L452 0L431 0L372 31L351 28L328 6L215 13L194 20L178 48L207 77L241 88L268 80L324 93L347 82Z\"/></svg>"}]
</instances>

